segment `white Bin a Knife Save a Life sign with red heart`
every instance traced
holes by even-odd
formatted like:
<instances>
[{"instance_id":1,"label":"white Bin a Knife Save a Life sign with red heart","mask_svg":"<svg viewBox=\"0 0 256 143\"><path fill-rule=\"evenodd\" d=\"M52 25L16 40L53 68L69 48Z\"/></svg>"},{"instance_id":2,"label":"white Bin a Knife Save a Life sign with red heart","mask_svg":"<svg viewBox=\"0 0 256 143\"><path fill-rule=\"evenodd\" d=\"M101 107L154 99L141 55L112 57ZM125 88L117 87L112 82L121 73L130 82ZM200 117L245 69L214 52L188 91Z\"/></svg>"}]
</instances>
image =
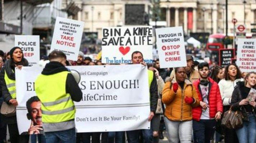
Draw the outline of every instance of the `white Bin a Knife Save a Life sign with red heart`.
<instances>
[{"instance_id":1,"label":"white Bin a Knife Save a Life sign with red heart","mask_svg":"<svg viewBox=\"0 0 256 143\"><path fill-rule=\"evenodd\" d=\"M152 63L152 26L102 28L102 36L102 63L132 63L134 51Z\"/></svg>"}]
</instances>

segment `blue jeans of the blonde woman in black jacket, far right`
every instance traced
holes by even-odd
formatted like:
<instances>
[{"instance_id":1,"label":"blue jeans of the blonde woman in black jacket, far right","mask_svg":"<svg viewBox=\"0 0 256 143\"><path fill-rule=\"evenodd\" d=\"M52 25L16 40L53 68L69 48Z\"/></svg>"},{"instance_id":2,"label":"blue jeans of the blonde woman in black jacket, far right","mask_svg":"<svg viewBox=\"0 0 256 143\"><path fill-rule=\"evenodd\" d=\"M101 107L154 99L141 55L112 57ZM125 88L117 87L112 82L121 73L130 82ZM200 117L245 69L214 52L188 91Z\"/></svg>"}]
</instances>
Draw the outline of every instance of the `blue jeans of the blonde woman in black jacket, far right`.
<instances>
[{"instance_id":1,"label":"blue jeans of the blonde woman in black jacket, far right","mask_svg":"<svg viewBox=\"0 0 256 143\"><path fill-rule=\"evenodd\" d=\"M243 122L242 128L236 130L239 143L256 143L255 114L248 115L248 119Z\"/></svg>"}]
</instances>

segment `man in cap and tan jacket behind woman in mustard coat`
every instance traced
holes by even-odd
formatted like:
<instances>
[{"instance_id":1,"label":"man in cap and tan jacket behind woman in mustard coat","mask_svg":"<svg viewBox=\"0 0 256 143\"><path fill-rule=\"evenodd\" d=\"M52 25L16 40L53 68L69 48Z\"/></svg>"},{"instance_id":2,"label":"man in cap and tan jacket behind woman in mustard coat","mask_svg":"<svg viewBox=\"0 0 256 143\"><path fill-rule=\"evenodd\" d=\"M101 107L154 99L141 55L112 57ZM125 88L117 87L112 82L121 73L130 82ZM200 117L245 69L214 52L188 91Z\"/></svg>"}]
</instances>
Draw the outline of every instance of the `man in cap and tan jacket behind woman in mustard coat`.
<instances>
[{"instance_id":1,"label":"man in cap and tan jacket behind woman in mustard coat","mask_svg":"<svg viewBox=\"0 0 256 143\"><path fill-rule=\"evenodd\" d=\"M195 69L195 66L193 65L194 63L194 59L193 56L191 55L186 55L187 58L187 66L185 68L186 70L186 74L185 77L188 78L191 82L197 80L198 78L200 78L199 74L198 74L198 70ZM170 78L172 79L174 77L174 81L175 79L175 72L174 70L172 71Z\"/></svg>"}]
</instances>

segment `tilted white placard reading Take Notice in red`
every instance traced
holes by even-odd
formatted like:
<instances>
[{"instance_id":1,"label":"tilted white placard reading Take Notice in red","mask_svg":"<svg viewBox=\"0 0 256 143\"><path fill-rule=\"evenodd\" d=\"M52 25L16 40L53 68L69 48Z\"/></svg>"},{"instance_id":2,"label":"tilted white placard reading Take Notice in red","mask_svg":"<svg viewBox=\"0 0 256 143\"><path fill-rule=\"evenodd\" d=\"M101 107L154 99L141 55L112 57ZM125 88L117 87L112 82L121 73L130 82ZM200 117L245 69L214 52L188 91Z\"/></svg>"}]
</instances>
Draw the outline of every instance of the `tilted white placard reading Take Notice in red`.
<instances>
[{"instance_id":1,"label":"tilted white placard reading Take Notice in red","mask_svg":"<svg viewBox=\"0 0 256 143\"><path fill-rule=\"evenodd\" d=\"M57 17L50 52L59 50L67 55L68 60L77 60L83 25L83 21Z\"/></svg>"}]
</instances>

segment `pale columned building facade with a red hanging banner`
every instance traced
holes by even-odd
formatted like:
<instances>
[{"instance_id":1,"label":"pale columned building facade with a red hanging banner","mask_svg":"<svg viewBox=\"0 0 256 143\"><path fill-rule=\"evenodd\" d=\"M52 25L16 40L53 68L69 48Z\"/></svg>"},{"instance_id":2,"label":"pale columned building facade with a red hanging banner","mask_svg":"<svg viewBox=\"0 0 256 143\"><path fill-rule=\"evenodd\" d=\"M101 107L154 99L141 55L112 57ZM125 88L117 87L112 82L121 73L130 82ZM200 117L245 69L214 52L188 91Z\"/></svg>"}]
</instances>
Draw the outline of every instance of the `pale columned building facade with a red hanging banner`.
<instances>
[{"instance_id":1,"label":"pale columned building facade with a red hanging banner","mask_svg":"<svg viewBox=\"0 0 256 143\"><path fill-rule=\"evenodd\" d=\"M255 23L255 0L160 0L161 20L166 26L183 26L184 32L225 33L226 12L228 12L228 33L233 33L232 19L237 24L245 24L246 32L251 33Z\"/></svg>"}]
</instances>

